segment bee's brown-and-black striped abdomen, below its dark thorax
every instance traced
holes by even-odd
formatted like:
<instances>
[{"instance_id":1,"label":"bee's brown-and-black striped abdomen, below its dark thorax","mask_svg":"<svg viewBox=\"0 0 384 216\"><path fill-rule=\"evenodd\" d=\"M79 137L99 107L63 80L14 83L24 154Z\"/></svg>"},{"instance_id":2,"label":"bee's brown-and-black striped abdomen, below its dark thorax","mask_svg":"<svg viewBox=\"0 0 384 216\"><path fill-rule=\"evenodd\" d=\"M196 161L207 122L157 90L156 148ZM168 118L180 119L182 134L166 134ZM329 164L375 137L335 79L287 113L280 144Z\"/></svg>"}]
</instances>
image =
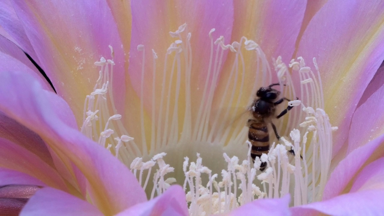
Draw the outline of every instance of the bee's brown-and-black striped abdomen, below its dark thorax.
<instances>
[{"instance_id":1,"label":"bee's brown-and-black striped abdomen, below its dark thorax","mask_svg":"<svg viewBox=\"0 0 384 216\"><path fill-rule=\"evenodd\" d=\"M269 151L269 134L267 124L263 122L253 122L249 126L248 139L252 143L251 157L255 162L256 157L261 157L263 153ZM260 165L260 170L264 171L266 163Z\"/></svg>"}]
</instances>

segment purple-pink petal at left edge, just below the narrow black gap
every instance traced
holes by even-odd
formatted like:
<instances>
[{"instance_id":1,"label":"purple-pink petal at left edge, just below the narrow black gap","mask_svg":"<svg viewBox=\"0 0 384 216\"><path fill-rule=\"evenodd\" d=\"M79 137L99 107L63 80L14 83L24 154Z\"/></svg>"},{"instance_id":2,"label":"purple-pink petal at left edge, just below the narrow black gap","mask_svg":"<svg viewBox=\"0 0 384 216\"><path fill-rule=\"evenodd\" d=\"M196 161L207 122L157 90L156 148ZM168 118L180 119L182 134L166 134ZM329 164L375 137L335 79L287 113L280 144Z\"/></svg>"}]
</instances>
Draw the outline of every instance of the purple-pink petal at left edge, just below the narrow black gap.
<instances>
[{"instance_id":1,"label":"purple-pink petal at left edge, just below the narrow black gap","mask_svg":"<svg viewBox=\"0 0 384 216\"><path fill-rule=\"evenodd\" d=\"M1 3L0 3L1 7ZM25 53L20 50L14 43L10 42L7 38L0 35L0 62L2 71L25 71L36 78L43 86L45 90L51 90L48 82L43 75L36 69L31 61L26 57Z\"/></svg>"}]
</instances>

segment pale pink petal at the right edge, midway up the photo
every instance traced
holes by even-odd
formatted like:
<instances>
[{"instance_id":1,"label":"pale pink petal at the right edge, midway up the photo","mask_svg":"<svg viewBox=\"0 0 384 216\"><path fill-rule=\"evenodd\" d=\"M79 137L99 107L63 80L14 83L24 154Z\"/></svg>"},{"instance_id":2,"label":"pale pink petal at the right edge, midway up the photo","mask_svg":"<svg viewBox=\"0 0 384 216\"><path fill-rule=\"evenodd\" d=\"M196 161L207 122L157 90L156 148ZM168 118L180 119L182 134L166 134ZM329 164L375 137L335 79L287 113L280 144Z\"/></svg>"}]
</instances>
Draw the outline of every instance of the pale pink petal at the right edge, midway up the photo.
<instances>
[{"instance_id":1,"label":"pale pink petal at the right edge, midway up the photo","mask_svg":"<svg viewBox=\"0 0 384 216\"><path fill-rule=\"evenodd\" d=\"M375 85L375 83L372 84ZM373 85L370 87L370 84L369 87L373 88ZM356 109L349 129L347 153L384 134L383 95L384 85L381 85L379 89Z\"/></svg>"}]
</instances>

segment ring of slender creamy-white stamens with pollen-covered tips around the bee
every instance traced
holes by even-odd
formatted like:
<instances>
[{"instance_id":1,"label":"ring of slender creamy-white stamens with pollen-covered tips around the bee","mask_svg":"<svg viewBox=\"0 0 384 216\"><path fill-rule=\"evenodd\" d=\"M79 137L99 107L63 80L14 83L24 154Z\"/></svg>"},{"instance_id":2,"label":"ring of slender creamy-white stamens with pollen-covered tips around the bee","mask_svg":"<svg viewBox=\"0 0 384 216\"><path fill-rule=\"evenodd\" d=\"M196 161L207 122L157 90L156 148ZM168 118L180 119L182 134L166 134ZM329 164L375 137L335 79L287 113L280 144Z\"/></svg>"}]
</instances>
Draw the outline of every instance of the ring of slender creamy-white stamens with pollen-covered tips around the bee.
<instances>
[{"instance_id":1,"label":"ring of slender creamy-white stamens with pollen-covered tips around the bee","mask_svg":"<svg viewBox=\"0 0 384 216\"><path fill-rule=\"evenodd\" d=\"M227 168L222 169L221 173L214 173L209 168L209 165L204 166L199 153L197 153L196 162L189 162L188 157L184 158L183 173L185 179L183 187L189 202L190 215L227 213L255 199L281 198L286 194L291 194L293 197L292 205L294 206L321 200L321 194L328 178L332 155L331 132L337 128L331 127L329 118L323 110L323 90L316 59L313 59L317 72L316 75L310 67L305 65L304 59L301 57L297 58L297 60L291 60L288 66L283 63L280 56L273 60L273 66L279 83L287 86L287 88L283 89L283 85L280 85L281 94L286 98L298 97L301 100L293 100L288 103L289 106L296 107L290 111L288 117L285 118L285 122L280 121L277 125L281 130L280 134L289 134L290 138L281 137L278 143L271 143L268 155L264 154L260 158L256 157L253 162L250 157L251 144L249 141L245 141L247 138L246 117L239 121L239 123L234 124L232 128L225 128L225 124L223 124L220 118L221 116L230 116L231 114L237 115L237 113L242 112L240 108L235 110L223 109L216 113L212 113L211 110L215 83L218 81L218 74L223 63L223 53L226 50L234 53L234 62L227 81L228 88L225 88L222 100L219 100L219 107L224 107L225 103L239 104L241 101L244 101L244 98L241 98L245 80L245 63L242 49L245 49L246 52L253 52L255 62L257 63L255 71L252 71L256 74L255 85L249 96L245 98L248 104L254 99L254 93L258 86L268 86L267 84L272 83L273 75L265 54L257 43L245 37L242 37L239 42L233 42L228 45L225 45L222 36L214 42L212 33L215 29L212 29L208 34L211 41L210 66L204 91L202 92L202 98L206 98L206 100L202 101L199 105L196 120L192 124L190 114L190 68L192 64L190 50L192 46L190 44L191 33L187 34L186 40L182 38L182 32L185 31L186 27L187 25L184 24L176 32L170 32L171 37L175 37L177 40L167 49L166 62L164 63L166 65L170 54L175 54L170 75L172 79L175 62L180 64L180 55L182 53L185 55L185 63L187 64L185 66L186 98L182 131L179 131L179 122L177 120L179 115L177 99L179 96L176 94L174 111L170 113L170 93L166 97L166 82L164 81L166 76L164 75L161 104L159 106L160 116L155 116L154 109L152 110L151 116L153 121L150 126L153 132L150 136L145 134L143 117L145 48L144 45L138 45L137 50L143 53L140 92L142 149L139 149L136 144L126 145L124 146L124 152L121 153L123 144L133 138L128 136L127 131L121 125L121 115L116 114L113 94L111 93L113 89L111 80L114 62L105 58L101 58L100 61L95 63L95 65L101 67L99 79L93 92L87 96L84 103L84 123L81 127L84 135L97 141L116 157L125 155L126 159L122 158L122 160L126 164L129 164L127 161L130 161L130 168L144 189L148 188L149 179L152 176L153 188L151 190L151 199L154 198L155 192L159 196L164 193L170 184L176 182L176 179L170 176L170 173L173 173L175 170L170 164L165 162L164 157L166 153L161 152L167 149L167 146L170 148L182 148L183 143L188 143L189 145L193 142L206 142L207 145L208 143L213 143L217 148L225 146L228 149L237 148L239 145L247 145L248 152L244 152L242 156L244 160L242 161L237 156L232 156L231 158L226 153L223 153L222 163L226 163ZM214 52L214 45L217 46L216 52ZM113 58L112 48L111 53ZM215 58L214 53L216 53ZM152 50L152 57L154 62L153 74L155 75L157 53L154 50ZM239 72L239 65L243 70L242 72ZM177 69L176 72L177 77L179 77L181 71ZM300 87L300 95L296 95L297 89L295 90L293 85L293 73L296 73L295 77L300 79L300 86L296 86ZM239 79L241 79L240 85L237 85ZM178 78L176 80L176 91L179 91L180 80ZM231 81L233 81L233 85L231 85ZM171 85L172 80L169 81L169 92ZM240 95L235 95L235 89L237 88L240 88ZM154 92L155 81L153 80L153 95ZM166 98L168 101L165 101ZM165 104L167 104L166 108ZM152 106L153 108L155 107L155 100L152 100ZM165 116L161 116L163 109L165 109ZM110 112L114 114L110 115ZM147 149L146 137L149 137L149 140L151 140L149 149ZM291 153L292 150L295 153L294 155ZM143 162L141 157L143 155L154 156L151 160ZM263 162L267 164L267 168L262 172L260 171L260 165ZM152 169L156 164L158 168L153 172ZM166 175L170 177L167 178ZM220 179L220 181L217 179Z\"/></svg>"}]
</instances>

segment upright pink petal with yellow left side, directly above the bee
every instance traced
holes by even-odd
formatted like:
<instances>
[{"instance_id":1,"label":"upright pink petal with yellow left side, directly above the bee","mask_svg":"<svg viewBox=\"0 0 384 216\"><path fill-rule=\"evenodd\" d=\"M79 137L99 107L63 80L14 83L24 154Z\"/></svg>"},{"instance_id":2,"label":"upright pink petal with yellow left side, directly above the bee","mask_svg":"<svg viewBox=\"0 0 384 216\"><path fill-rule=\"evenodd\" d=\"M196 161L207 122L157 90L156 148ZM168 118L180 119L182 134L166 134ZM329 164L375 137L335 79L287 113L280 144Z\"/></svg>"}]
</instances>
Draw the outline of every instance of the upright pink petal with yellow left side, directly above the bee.
<instances>
[{"instance_id":1,"label":"upright pink petal with yellow left side, directly above the bee","mask_svg":"<svg viewBox=\"0 0 384 216\"><path fill-rule=\"evenodd\" d=\"M305 13L306 1L235 1L233 38L247 37L260 45L267 60L290 61ZM289 18L287 18L289 17Z\"/></svg>"}]
</instances>

